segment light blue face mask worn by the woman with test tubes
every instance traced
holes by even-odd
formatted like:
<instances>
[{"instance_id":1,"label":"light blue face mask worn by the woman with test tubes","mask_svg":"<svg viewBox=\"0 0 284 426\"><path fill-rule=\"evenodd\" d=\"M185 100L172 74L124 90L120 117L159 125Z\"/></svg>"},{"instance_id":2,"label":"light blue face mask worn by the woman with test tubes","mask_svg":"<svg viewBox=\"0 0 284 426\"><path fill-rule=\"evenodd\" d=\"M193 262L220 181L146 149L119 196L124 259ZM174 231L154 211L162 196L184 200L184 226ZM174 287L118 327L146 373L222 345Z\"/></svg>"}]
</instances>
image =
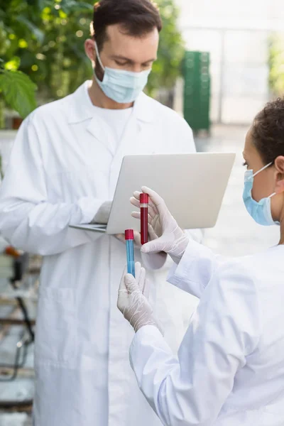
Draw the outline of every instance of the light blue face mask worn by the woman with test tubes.
<instances>
[{"instance_id":1,"label":"light blue face mask worn by the woman with test tubes","mask_svg":"<svg viewBox=\"0 0 284 426\"><path fill-rule=\"evenodd\" d=\"M271 215L271 197L276 193L273 192L269 197L263 198L260 201L253 200L251 195L251 191L253 189L253 178L261 173L263 170L268 168L272 163L265 165L261 170L254 173L253 170L246 170L244 175L244 194L243 200L244 205L246 206L247 211L251 215L251 217L256 221L256 223L264 226L279 224L279 222L275 222Z\"/></svg>"}]
</instances>

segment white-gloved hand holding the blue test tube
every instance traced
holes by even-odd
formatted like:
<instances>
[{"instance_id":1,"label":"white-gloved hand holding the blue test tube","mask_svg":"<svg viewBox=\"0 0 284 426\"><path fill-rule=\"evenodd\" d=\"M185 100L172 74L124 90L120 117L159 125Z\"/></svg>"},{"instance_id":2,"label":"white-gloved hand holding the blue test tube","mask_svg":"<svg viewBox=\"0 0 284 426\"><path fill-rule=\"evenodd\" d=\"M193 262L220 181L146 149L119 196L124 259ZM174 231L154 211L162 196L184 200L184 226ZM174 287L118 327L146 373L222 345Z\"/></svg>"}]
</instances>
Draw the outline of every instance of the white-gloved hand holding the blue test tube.
<instances>
[{"instance_id":1,"label":"white-gloved hand holding the blue test tube","mask_svg":"<svg viewBox=\"0 0 284 426\"><path fill-rule=\"evenodd\" d=\"M124 273L119 286L119 297L117 307L124 315L124 318L130 322L135 332L144 325L154 325L160 332L161 327L155 320L153 309L148 302L150 293L150 285L146 280L146 272L141 268L141 263L135 264L135 276L127 273L127 268L124 268ZM163 332L162 332L163 334Z\"/></svg>"}]
</instances>

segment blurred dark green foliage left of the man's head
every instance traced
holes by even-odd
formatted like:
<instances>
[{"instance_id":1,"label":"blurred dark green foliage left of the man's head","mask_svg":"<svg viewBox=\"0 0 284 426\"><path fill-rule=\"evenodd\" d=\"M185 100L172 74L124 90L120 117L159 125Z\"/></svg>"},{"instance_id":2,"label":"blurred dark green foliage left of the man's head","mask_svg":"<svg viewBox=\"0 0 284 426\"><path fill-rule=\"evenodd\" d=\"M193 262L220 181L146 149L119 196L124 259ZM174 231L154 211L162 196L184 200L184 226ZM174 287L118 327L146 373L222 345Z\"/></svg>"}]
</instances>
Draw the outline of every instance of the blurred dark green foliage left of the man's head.
<instances>
[{"instance_id":1,"label":"blurred dark green foliage left of the man's head","mask_svg":"<svg viewBox=\"0 0 284 426\"><path fill-rule=\"evenodd\" d=\"M94 1L11 0L0 9L9 48L4 60L38 86L41 102L64 97L90 75L83 40L89 35Z\"/></svg>"}]
</instances>

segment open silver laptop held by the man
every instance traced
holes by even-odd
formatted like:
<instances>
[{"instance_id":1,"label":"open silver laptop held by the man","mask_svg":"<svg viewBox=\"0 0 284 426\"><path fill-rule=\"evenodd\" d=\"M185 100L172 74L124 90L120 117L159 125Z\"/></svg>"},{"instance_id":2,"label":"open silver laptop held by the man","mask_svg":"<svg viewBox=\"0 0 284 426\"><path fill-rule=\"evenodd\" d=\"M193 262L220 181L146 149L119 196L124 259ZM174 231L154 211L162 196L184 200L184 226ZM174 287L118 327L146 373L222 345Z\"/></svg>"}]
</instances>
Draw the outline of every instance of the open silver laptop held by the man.
<instances>
[{"instance_id":1,"label":"open silver laptop held by the man","mask_svg":"<svg viewBox=\"0 0 284 426\"><path fill-rule=\"evenodd\" d=\"M126 155L107 226L82 224L72 228L107 234L139 231L140 222L131 217L135 207L129 199L144 185L163 197L182 229L212 228L234 159L235 153Z\"/></svg>"}]
</instances>

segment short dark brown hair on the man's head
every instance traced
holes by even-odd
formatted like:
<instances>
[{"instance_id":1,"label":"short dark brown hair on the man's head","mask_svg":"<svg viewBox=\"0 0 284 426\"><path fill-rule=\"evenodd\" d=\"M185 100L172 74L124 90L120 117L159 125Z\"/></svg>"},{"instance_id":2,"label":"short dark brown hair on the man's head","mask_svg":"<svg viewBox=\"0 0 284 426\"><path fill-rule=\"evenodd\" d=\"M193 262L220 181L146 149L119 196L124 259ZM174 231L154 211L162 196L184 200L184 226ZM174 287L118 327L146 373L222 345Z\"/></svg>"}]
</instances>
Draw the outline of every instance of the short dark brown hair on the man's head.
<instances>
[{"instance_id":1,"label":"short dark brown hair on the man's head","mask_svg":"<svg viewBox=\"0 0 284 426\"><path fill-rule=\"evenodd\" d=\"M99 50L107 40L107 27L116 24L133 37L162 29L158 6L151 0L101 0L94 5L92 22L92 35Z\"/></svg>"}]
</instances>

